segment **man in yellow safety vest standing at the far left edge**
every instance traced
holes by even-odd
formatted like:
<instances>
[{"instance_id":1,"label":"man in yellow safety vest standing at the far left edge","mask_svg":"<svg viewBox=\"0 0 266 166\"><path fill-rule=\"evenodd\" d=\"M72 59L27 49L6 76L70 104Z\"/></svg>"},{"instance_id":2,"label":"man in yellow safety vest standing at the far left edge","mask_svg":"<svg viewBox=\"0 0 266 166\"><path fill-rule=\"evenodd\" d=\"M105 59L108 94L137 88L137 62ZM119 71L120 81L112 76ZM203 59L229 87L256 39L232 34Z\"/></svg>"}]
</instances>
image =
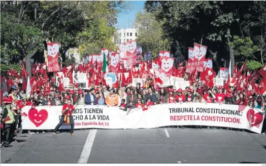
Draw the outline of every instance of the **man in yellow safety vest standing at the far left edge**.
<instances>
[{"instance_id":1,"label":"man in yellow safety vest standing at the far left edge","mask_svg":"<svg viewBox=\"0 0 266 166\"><path fill-rule=\"evenodd\" d=\"M5 101L6 105L4 106L3 109L3 115L2 119L4 122L4 147L12 147L12 145L9 145L9 139L10 139L10 129L15 122L15 117L14 117L14 111L11 108L12 100L8 98Z\"/></svg>"}]
</instances>

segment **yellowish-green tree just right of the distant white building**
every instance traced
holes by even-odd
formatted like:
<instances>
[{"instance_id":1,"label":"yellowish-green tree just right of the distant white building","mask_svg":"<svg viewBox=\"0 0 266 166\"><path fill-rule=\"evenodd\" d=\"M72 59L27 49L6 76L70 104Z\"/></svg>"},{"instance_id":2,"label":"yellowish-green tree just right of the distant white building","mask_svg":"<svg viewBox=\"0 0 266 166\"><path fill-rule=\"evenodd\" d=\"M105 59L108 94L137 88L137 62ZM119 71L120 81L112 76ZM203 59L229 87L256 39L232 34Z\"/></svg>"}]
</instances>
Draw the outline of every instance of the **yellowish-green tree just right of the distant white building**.
<instances>
[{"instance_id":1,"label":"yellowish-green tree just right of the distant white building","mask_svg":"<svg viewBox=\"0 0 266 166\"><path fill-rule=\"evenodd\" d=\"M134 26L138 29L138 44L144 52L152 51L153 57L159 51L170 50L170 40L165 38L162 30L162 21L157 21L153 13L138 13Z\"/></svg>"}]
</instances>

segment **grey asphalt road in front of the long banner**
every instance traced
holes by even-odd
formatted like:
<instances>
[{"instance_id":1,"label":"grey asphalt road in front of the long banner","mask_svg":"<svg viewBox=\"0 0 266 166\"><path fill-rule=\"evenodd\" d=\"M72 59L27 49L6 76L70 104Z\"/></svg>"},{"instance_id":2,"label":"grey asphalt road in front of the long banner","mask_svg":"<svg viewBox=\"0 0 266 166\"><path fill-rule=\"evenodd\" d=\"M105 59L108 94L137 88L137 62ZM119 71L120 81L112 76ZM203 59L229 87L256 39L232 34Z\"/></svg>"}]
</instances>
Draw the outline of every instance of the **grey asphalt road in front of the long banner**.
<instances>
[{"instance_id":1,"label":"grey asphalt road in front of the long banner","mask_svg":"<svg viewBox=\"0 0 266 166\"><path fill-rule=\"evenodd\" d=\"M1 148L1 163L266 163L262 134L176 128L75 134L19 134L12 148Z\"/></svg>"}]
</instances>

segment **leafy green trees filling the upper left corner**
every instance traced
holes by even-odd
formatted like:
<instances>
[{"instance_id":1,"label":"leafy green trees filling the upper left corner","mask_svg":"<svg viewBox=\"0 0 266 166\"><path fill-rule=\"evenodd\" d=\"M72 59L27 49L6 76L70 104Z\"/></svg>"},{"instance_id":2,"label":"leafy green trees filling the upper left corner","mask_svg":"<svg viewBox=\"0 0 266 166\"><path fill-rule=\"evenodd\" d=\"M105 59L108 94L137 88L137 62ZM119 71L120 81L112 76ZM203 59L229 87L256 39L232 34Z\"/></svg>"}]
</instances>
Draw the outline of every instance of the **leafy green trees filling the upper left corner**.
<instances>
[{"instance_id":1,"label":"leafy green trees filling the upper left corner","mask_svg":"<svg viewBox=\"0 0 266 166\"><path fill-rule=\"evenodd\" d=\"M99 1L1 1L1 60L25 58L30 74L30 59L45 49L46 41L61 44L62 62L69 48L86 42L79 34L105 18L108 27L116 23L123 2ZM93 28L92 28L93 27ZM4 30L3 30L4 29ZM94 29L94 30L95 30ZM98 36L101 33L96 33ZM97 38L92 41L98 42ZM17 62L17 61L16 61Z\"/></svg>"}]
</instances>

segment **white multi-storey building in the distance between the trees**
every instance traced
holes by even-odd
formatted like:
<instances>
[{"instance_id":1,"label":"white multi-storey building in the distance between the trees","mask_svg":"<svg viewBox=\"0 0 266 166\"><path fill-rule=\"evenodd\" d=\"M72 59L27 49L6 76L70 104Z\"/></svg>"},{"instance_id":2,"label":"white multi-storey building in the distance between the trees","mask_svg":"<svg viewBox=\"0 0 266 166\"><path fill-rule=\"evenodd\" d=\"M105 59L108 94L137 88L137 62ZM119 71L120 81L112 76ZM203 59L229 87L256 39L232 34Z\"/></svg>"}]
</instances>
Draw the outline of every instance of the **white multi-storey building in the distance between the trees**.
<instances>
[{"instance_id":1,"label":"white multi-storey building in the distance between the trees","mask_svg":"<svg viewBox=\"0 0 266 166\"><path fill-rule=\"evenodd\" d=\"M114 43L126 43L126 41L136 40L138 31L136 28L117 29L114 34Z\"/></svg>"}]
</instances>

